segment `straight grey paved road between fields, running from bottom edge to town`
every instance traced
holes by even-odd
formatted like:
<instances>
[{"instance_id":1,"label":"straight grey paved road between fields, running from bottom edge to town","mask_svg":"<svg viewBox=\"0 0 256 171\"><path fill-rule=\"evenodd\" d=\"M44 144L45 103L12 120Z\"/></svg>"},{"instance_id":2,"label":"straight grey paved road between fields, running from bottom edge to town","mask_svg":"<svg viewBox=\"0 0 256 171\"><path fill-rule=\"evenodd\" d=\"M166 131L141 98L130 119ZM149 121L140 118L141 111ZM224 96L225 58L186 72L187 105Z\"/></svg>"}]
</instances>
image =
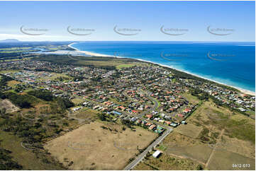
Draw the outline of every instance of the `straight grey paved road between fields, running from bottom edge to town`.
<instances>
[{"instance_id":1,"label":"straight grey paved road between fields, running from bottom edge to town","mask_svg":"<svg viewBox=\"0 0 256 171\"><path fill-rule=\"evenodd\" d=\"M172 132L172 129L167 129L162 136L158 137L152 144L150 144L150 146L148 146L148 148L143 151L143 153L140 153L140 155L138 155L137 158L135 158L135 160L133 160L132 163L128 164L123 170L132 170L133 167L135 167L135 165L137 165L138 163L140 163L141 160L143 160L143 158L145 158L145 156L147 155L148 152L152 151L152 148L154 148L155 146L157 146L157 144L161 143L164 138L170 134Z\"/></svg>"}]
</instances>

